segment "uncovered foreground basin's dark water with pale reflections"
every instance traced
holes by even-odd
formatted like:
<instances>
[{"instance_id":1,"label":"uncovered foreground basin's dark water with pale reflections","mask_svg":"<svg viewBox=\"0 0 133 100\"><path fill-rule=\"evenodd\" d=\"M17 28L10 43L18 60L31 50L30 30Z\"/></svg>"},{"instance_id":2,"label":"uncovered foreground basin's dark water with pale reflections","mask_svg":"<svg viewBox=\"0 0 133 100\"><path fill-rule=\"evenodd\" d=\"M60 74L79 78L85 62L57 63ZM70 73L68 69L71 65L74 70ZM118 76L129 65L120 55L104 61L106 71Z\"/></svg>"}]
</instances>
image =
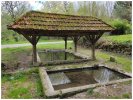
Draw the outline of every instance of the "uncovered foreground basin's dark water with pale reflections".
<instances>
[{"instance_id":1,"label":"uncovered foreground basin's dark water with pale reflections","mask_svg":"<svg viewBox=\"0 0 133 100\"><path fill-rule=\"evenodd\" d=\"M48 75L55 90L95 83L105 84L112 80L130 78L127 75L106 67L54 71L48 72Z\"/></svg>"}]
</instances>

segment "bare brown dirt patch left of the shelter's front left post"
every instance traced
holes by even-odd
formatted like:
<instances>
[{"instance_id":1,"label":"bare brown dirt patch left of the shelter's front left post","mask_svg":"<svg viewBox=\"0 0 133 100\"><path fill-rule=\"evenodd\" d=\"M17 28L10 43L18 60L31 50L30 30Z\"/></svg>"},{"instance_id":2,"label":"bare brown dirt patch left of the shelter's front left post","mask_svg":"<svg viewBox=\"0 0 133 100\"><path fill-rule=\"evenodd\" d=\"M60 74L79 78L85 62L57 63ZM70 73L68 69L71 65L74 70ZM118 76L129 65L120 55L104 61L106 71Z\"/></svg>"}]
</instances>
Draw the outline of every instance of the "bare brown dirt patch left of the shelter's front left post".
<instances>
[{"instance_id":1,"label":"bare brown dirt patch left of the shelter's front left post","mask_svg":"<svg viewBox=\"0 0 133 100\"><path fill-rule=\"evenodd\" d=\"M5 69L3 70L5 73L11 73L16 71L22 71L30 68L32 55L31 53L21 52L14 54L15 60L4 62Z\"/></svg>"}]
</instances>

